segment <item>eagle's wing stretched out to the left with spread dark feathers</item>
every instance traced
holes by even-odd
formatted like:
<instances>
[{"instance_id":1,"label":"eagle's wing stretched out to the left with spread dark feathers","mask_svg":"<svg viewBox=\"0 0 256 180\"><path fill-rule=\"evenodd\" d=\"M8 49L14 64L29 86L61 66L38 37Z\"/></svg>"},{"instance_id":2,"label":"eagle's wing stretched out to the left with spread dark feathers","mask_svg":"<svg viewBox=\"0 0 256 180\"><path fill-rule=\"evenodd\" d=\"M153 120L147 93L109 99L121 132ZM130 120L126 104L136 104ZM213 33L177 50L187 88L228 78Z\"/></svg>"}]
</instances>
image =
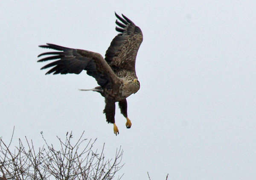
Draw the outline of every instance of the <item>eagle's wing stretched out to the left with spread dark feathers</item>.
<instances>
[{"instance_id":1,"label":"eagle's wing stretched out to the left with spread dark feathers","mask_svg":"<svg viewBox=\"0 0 256 180\"><path fill-rule=\"evenodd\" d=\"M56 60L41 68L51 68L46 74L79 74L82 70L86 70L87 74L89 76L93 76L97 83L102 87L106 87L112 82L119 80L111 67L99 53L66 48L48 43L47 45L40 45L39 47L57 50L55 52L41 53L38 55L38 57L50 55L38 60L38 62Z\"/></svg>"}]
</instances>

